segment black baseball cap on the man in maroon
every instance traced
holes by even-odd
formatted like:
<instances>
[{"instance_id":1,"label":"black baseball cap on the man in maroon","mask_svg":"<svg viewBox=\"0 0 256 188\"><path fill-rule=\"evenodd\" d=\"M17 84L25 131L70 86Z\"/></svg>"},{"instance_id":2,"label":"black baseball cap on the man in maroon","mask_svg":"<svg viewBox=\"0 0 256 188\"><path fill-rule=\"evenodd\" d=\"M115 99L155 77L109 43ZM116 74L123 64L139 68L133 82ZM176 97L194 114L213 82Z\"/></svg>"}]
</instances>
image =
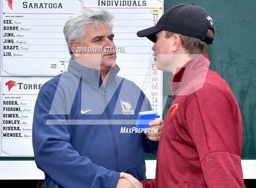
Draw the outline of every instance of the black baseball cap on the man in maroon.
<instances>
[{"instance_id":1,"label":"black baseball cap on the man in maroon","mask_svg":"<svg viewBox=\"0 0 256 188\"><path fill-rule=\"evenodd\" d=\"M212 29L214 33L213 20L204 8L195 4L178 4L169 8L154 27L137 32L137 36L146 36L156 42L155 34L167 30L212 44L213 38L207 37L208 29Z\"/></svg>"}]
</instances>

